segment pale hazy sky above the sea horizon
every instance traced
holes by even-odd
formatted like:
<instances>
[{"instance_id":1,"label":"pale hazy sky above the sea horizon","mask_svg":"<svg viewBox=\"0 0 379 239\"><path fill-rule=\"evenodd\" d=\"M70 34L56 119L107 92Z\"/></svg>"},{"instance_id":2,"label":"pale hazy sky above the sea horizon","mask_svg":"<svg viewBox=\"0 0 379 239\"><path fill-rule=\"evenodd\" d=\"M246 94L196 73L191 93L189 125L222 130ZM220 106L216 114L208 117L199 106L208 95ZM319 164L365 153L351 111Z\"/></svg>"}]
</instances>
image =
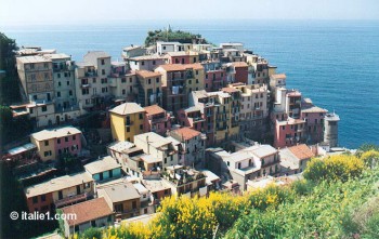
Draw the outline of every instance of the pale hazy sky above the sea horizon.
<instances>
[{"instance_id":1,"label":"pale hazy sky above the sea horizon","mask_svg":"<svg viewBox=\"0 0 379 239\"><path fill-rule=\"evenodd\" d=\"M179 18L378 19L379 0L0 0L0 25Z\"/></svg>"}]
</instances>

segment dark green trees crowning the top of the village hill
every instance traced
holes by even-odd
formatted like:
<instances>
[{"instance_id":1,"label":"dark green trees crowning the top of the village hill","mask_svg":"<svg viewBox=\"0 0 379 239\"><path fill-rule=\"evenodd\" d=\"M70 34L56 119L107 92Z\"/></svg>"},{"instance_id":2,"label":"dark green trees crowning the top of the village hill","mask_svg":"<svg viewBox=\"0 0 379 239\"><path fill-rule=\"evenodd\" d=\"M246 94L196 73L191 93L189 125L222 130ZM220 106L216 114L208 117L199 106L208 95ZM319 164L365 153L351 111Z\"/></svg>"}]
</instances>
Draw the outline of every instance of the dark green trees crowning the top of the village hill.
<instances>
[{"instance_id":1,"label":"dark green trees crowning the top of the village hill","mask_svg":"<svg viewBox=\"0 0 379 239\"><path fill-rule=\"evenodd\" d=\"M201 35L191 34L188 31L175 30L171 27L167 30L149 30L145 39L145 45L153 45L157 41L179 41L181 43L209 43L206 39L201 38Z\"/></svg>"}]
</instances>

